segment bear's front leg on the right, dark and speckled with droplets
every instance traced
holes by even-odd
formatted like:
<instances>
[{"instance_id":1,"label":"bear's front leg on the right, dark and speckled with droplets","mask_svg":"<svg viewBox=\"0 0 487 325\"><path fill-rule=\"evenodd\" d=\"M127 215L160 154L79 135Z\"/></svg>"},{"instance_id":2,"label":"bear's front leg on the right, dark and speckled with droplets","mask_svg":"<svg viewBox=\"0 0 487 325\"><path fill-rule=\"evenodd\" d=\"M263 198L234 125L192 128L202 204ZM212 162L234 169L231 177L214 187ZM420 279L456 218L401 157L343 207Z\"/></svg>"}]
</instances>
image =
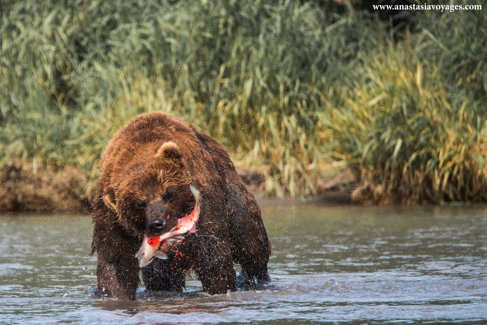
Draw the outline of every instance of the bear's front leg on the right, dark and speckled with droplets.
<instances>
[{"instance_id":1,"label":"bear's front leg on the right, dark and speckled with droplets","mask_svg":"<svg viewBox=\"0 0 487 325\"><path fill-rule=\"evenodd\" d=\"M200 238L202 237L204 236ZM222 294L227 290L236 291L236 273L228 244L218 241L213 236L211 240L206 237L206 240L200 241L199 244L201 250L195 270L203 291L209 294Z\"/></svg>"}]
</instances>

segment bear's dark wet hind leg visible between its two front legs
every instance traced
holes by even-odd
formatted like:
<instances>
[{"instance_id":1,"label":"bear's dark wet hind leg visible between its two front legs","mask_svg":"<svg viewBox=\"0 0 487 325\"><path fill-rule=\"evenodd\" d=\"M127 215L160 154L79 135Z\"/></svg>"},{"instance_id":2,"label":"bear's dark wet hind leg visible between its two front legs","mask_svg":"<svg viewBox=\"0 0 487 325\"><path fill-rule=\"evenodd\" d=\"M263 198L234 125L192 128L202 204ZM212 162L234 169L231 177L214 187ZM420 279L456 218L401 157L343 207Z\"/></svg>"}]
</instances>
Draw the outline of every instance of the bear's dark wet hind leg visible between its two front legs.
<instances>
[{"instance_id":1,"label":"bear's dark wet hind leg visible between its two front legs","mask_svg":"<svg viewBox=\"0 0 487 325\"><path fill-rule=\"evenodd\" d=\"M154 259L152 263L142 268L142 279L146 285L146 290L182 292L185 286L184 272L179 271L179 269L176 271L175 262L171 259Z\"/></svg>"}]
</instances>

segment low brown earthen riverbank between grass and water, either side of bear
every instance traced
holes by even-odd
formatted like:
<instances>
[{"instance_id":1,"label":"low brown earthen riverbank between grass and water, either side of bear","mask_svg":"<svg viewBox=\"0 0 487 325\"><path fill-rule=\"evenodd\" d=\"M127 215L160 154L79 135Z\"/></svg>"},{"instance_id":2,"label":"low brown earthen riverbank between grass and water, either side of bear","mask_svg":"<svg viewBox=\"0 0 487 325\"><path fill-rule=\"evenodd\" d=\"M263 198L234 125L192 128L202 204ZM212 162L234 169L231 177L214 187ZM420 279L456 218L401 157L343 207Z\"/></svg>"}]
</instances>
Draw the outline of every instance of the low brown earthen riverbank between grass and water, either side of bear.
<instances>
[{"instance_id":1,"label":"low brown earthen riverbank between grass and water, either side of bear","mask_svg":"<svg viewBox=\"0 0 487 325\"><path fill-rule=\"evenodd\" d=\"M319 192L307 198L289 194L278 198L265 191L266 177L258 171L238 169L247 189L259 204L282 205L303 202L350 204L351 184L355 182L350 172L320 180ZM41 212L77 213L89 212L94 197L94 180L77 166L33 166L32 162L12 160L1 168L0 213Z\"/></svg>"}]
</instances>

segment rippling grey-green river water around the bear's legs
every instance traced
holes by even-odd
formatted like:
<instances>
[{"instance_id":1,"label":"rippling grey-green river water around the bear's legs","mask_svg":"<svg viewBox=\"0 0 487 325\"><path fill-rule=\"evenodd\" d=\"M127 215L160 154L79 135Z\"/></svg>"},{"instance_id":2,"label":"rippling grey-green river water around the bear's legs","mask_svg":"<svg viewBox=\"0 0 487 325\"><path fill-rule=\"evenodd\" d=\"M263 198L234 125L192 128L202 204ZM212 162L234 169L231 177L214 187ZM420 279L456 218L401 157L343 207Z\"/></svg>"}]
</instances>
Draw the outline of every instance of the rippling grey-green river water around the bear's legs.
<instances>
[{"instance_id":1,"label":"rippling grey-green river water around the bear's legs","mask_svg":"<svg viewBox=\"0 0 487 325\"><path fill-rule=\"evenodd\" d=\"M0 324L487 324L487 206L262 206L264 291L90 298L89 215L0 216Z\"/></svg>"}]
</instances>

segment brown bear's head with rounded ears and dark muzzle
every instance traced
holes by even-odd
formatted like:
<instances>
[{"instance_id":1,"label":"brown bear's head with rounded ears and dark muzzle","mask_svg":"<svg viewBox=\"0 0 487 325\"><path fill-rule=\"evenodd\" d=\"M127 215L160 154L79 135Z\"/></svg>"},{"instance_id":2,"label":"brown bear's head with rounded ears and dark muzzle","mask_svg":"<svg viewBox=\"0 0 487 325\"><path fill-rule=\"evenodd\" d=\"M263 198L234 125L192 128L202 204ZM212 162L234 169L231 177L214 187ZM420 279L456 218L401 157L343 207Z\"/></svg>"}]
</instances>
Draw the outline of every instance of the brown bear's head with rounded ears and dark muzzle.
<instances>
[{"instance_id":1,"label":"brown bear's head with rounded ears and dark muzzle","mask_svg":"<svg viewBox=\"0 0 487 325\"><path fill-rule=\"evenodd\" d=\"M155 154L137 153L127 166L112 171L110 185L103 189L103 201L126 229L158 236L193 209L195 200L189 183L178 146L165 142Z\"/></svg>"}]
</instances>

